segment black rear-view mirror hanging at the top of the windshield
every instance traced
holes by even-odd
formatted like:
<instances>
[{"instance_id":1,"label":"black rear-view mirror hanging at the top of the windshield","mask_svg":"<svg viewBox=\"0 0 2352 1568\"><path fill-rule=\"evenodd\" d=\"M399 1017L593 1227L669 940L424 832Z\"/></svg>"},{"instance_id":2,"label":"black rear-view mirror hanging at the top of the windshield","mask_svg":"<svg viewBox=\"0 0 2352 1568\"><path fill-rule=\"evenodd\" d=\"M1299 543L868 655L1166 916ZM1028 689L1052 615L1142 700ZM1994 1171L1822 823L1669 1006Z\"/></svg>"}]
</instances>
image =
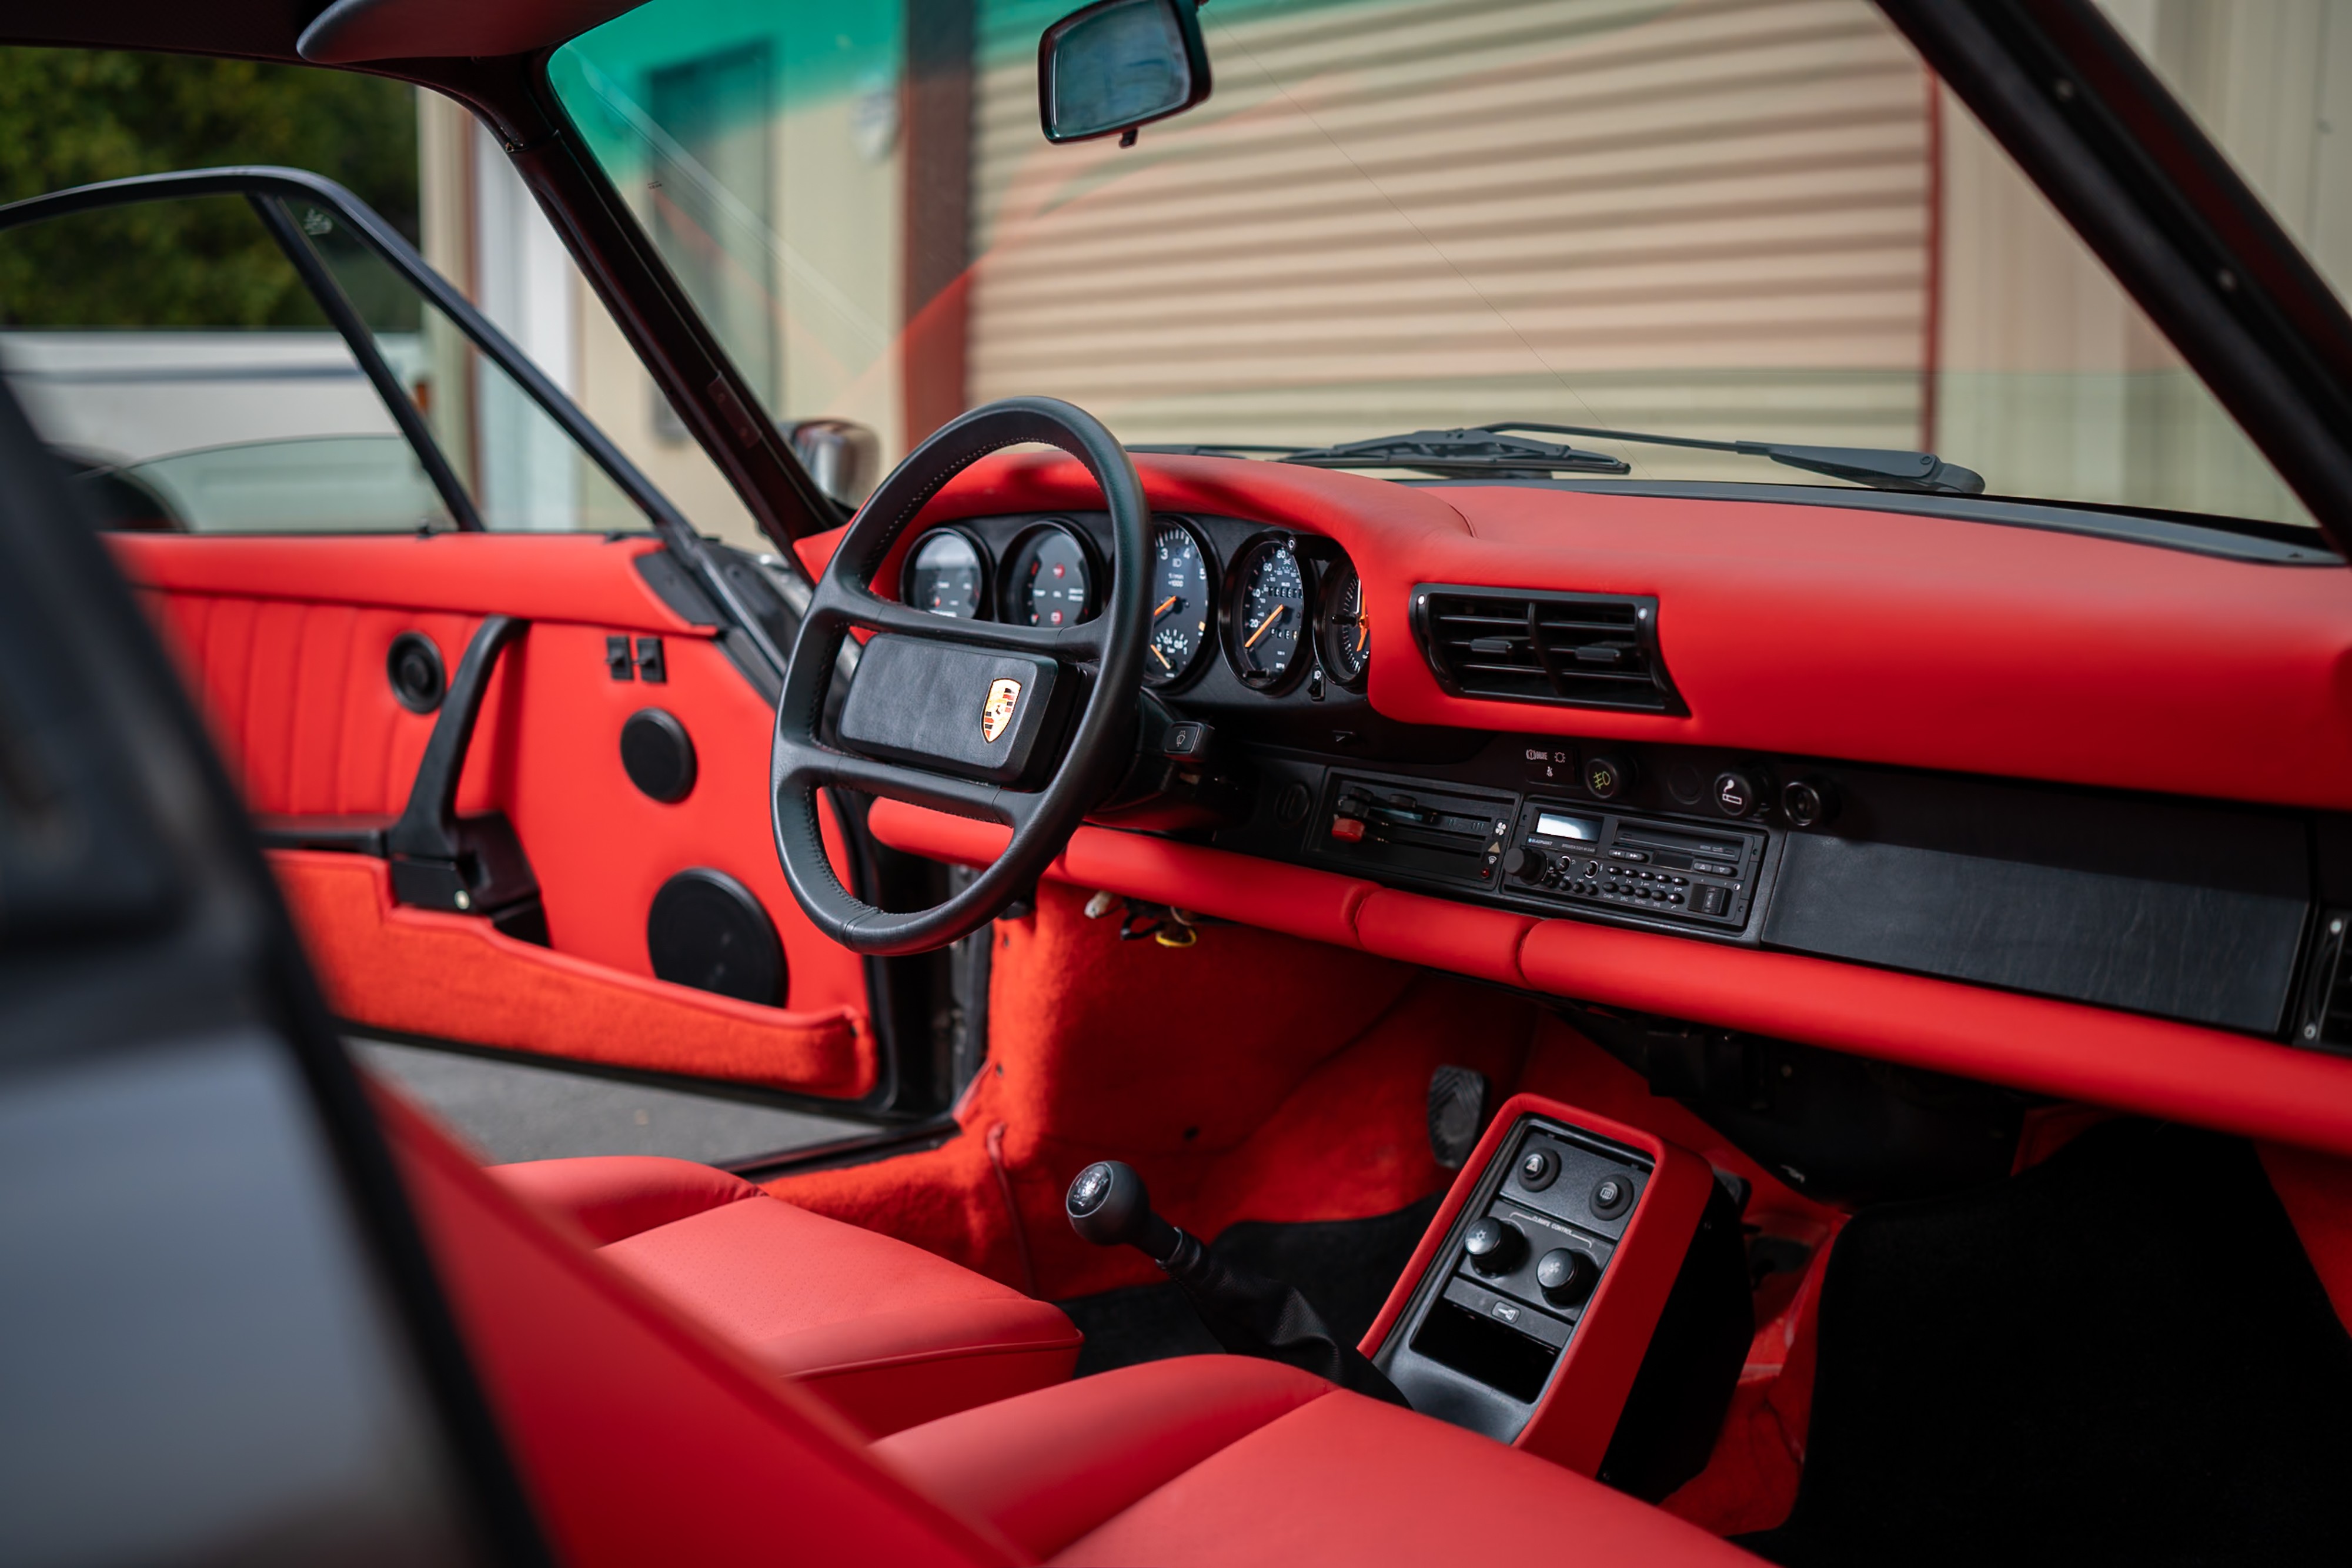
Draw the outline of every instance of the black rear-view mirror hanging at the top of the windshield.
<instances>
[{"instance_id":1,"label":"black rear-view mirror hanging at the top of the windshield","mask_svg":"<svg viewBox=\"0 0 2352 1568\"><path fill-rule=\"evenodd\" d=\"M1209 96L1195 0L1096 0L1037 40L1037 115L1047 141L1087 141L1181 115Z\"/></svg>"}]
</instances>

